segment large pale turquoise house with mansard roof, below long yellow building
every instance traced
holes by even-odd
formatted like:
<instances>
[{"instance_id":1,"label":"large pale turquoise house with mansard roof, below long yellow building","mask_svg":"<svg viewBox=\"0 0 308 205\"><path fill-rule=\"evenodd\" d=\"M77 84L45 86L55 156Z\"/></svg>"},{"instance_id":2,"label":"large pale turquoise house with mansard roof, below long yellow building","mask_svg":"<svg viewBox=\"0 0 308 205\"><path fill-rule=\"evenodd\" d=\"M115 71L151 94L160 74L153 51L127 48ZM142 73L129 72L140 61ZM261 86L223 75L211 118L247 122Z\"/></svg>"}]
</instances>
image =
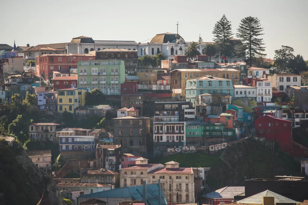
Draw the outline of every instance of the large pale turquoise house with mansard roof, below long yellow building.
<instances>
[{"instance_id":1,"label":"large pale turquoise house with mansard roof, below long yellow building","mask_svg":"<svg viewBox=\"0 0 308 205\"><path fill-rule=\"evenodd\" d=\"M204 93L226 93L234 97L234 89L231 80L213 76L198 77L187 80L185 87L186 101L193 106L200 104L199 95Z\"/></svg>"}]
</instances>

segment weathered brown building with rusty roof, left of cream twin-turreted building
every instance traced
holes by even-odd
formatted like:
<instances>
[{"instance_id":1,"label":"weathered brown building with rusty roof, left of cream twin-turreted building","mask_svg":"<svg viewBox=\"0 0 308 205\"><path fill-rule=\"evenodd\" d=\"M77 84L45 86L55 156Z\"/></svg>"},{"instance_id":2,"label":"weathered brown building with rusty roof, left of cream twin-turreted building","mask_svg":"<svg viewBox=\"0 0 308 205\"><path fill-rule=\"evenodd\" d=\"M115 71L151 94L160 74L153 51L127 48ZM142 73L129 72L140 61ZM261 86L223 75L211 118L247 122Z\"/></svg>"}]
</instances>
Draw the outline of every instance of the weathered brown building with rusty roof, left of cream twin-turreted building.
<instances>
[{"instance_id":1,"label":"weathered brown building with rusty roof, left of cream twin-turreted building","mask_svg":"<svg viewBox=\"0 0 308 205\"><path fill-rule=\"evenodd\" d=\"M80 169L80 183L99 183L110 185L112 189L120 187L120 174L106 169Z\"/></svg>"}]
</instances>

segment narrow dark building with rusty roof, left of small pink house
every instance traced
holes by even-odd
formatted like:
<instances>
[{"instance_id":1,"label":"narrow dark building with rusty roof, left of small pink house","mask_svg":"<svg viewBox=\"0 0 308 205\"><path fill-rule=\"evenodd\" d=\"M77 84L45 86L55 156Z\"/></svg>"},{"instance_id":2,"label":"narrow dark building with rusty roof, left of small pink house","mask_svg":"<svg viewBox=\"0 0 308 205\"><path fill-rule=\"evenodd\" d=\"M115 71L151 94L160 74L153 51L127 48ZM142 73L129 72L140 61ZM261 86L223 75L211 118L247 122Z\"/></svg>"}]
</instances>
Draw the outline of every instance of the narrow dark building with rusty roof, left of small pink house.
<instances>
[{"instance_id":1,"label":"narrow dark building with rusty roof, left of small pink house","mask_svg":"<svg viewBox=\"0 0 308 205\"><path fill-rule=\"evenodd\" d=\"M121 168L121 145L97 145L96 168L118 171Z\"/></svg>"}]
</instances>

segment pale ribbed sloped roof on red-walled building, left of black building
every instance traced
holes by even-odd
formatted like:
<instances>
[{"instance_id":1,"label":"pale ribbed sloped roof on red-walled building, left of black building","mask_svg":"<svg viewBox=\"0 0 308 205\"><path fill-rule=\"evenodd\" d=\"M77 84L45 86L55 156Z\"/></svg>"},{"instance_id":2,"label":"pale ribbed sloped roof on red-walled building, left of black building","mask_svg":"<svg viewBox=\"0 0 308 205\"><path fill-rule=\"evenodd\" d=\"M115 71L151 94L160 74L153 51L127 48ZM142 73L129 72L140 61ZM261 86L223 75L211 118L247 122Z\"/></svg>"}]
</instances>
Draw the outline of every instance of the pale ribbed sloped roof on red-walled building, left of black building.
<instances>
[{"instance_id":1,"label":"pale ribbed sloped roof on red-walled building, left of black building","mask_svg":"<svg viewBox=\"0 0 308 205\"><path fill-rule=\"evenodd\" d=\"M214 192L207 193L207 198L234 198L235 195L239 195L245 192L245 187L223 187L217 189ZM240 202L241 203L241 202Z\"/></svg>"}]
</instances>

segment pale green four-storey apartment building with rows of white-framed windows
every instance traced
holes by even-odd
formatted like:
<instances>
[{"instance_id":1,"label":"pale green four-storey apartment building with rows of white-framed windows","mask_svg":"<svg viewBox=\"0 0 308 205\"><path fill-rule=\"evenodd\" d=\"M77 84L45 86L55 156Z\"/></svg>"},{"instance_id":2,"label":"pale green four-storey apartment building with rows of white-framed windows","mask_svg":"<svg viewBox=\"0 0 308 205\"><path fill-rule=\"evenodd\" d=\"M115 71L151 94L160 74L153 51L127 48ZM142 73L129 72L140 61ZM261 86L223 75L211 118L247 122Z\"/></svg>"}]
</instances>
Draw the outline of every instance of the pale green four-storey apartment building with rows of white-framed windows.
<instances>
[{"instance_id":1,"label":"pale green four-storey apartment building with rows of white-framed windows","mask_svg":"<svg viewBox=\"0 0 308 205\"><path fill-rule=\"evenodd\" d=\"M124 82L124 61L78 61L78 88L88 91L98 88L105 95L120 95Z\"/></svg>"}]
</instances>

